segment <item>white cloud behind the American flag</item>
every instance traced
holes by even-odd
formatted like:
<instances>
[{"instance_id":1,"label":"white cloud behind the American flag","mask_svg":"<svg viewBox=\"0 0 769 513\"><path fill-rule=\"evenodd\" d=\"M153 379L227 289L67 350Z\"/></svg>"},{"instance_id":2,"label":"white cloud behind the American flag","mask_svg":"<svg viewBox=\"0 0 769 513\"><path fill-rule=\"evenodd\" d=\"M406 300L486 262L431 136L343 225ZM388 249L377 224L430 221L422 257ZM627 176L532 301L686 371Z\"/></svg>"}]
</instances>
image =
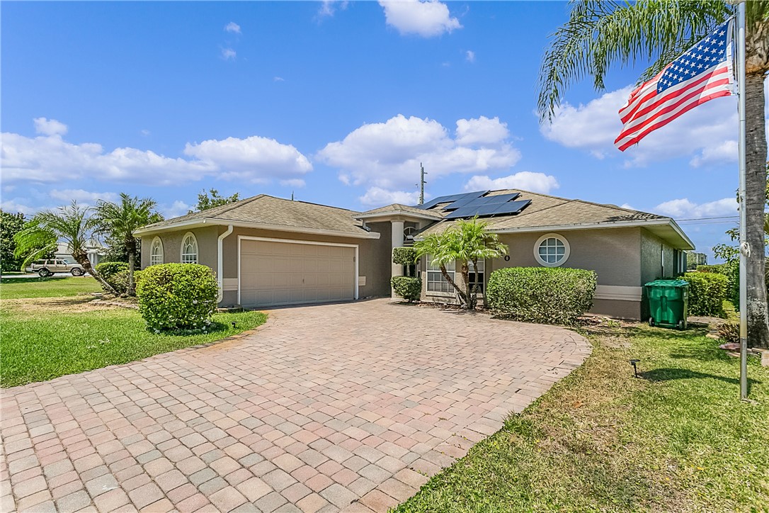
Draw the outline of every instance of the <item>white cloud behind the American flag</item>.
<instances>
[{"instance_id":1,"label":"white cloud behind the American flag","mask_svg":"<svg viewBox=\"0 0 769 513\"><path fill-rule=\"evenodd\" d=\"M540 130L545 138L568 148L581 148L596 158L624 158L626 166L691 156L701 167L737 160L736 98L717 98L647 135L624 153L614 147L622 128L618 111L633 87L607 92L586 105L564 102L551 124Z\"/></svg>"}]
</instances>

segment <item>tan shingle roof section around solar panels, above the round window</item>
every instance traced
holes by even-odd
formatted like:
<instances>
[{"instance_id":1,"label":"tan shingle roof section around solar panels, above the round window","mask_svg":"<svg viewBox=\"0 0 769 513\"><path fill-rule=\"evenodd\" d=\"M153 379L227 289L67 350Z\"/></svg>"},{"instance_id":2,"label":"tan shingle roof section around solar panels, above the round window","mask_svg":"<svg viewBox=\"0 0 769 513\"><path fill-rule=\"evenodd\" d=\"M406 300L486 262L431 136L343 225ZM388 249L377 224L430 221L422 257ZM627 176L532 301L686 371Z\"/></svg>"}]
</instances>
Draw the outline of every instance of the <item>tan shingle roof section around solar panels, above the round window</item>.
<instances>
[{"instance_id":1,"label":"tan shingle roof section around solar panels, above the round window","mask_svg":"<svg viewBox=\"0 0 769 513\"><path fill-rule=\"evenodd\" d=\"M538 194L535 192L507 189L494 191L491 195L520 192L516 200L530 199L531 204L517 215L499 215L484 218L488 229L503 230L515 228L538 228L554 225L585 225L608 222L632 222L651 219L667 219L662 215L640 212L617 205L585 202L581 199L558 198L557 196ZM453 221L443 221L425 228L420 235L442 232Z\"/></svg>"}]
</instances>

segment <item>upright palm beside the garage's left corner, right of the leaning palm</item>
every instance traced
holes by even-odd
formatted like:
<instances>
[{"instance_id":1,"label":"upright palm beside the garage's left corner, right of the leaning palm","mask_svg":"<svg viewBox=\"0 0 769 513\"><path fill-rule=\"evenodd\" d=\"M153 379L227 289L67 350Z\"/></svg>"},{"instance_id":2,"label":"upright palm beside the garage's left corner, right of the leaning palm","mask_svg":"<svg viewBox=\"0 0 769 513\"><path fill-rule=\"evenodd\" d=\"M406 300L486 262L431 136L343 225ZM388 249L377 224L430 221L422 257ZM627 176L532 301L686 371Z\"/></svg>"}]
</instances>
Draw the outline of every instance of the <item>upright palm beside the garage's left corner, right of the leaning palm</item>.
<instances>
[{"instance_id":1,"label":"upright palm beside the garage's left corner, right of the leaning palm","mask_svg":"<svg viewBox=\"0 0 769 513\"><path fill-rule=\"evenodd\" d=\"M135 295L134 270L136 268L136 235L138 228L161 222L163 216L155 212L157 202L150 198L131 197L124 192L120 202L99 200L96 204L98 232L108 234L113 241L125 246L128 254L128 295Z\"/></svg>"}]
</instances>

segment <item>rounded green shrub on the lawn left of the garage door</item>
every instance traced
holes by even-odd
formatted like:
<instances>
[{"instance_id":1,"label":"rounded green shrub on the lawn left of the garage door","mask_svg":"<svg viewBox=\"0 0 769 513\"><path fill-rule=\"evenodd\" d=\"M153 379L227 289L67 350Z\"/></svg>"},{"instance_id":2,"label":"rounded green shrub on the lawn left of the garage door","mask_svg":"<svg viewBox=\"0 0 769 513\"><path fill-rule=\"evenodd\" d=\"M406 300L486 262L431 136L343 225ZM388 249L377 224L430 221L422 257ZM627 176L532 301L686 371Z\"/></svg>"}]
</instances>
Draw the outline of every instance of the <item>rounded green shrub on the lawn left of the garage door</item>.
<instances>
[{"instance_id":1,"label":"rounded green shrub on the lawn left of the garage door","mask_svg":"<svg viewBox=\"0 0 769 513\"><path fill-rule=\"evenodd\" d=\"M149 328L205 331L216 311L218 285L205 265L151 265L141 271L136 295Z\"/></svg>"}]
</instances>

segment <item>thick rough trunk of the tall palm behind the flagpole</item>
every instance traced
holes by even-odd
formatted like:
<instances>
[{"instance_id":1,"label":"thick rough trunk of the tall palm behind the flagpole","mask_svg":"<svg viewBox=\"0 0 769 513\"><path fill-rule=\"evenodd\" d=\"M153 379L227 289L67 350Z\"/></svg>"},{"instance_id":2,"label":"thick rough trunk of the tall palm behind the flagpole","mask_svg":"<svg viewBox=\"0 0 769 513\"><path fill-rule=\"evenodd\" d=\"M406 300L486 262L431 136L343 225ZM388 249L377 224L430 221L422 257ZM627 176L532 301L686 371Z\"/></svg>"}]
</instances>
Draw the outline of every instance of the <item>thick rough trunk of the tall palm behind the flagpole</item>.
<instances>
[{"instance_id":1,"label":"thick rough trunk of the tall palm behind the flagpole","mask_svg":"<svg viewBox=\"0 0 769 513\"><path fill-rule=\"evenodd\" d=\"M747 258L747 344L769 348L767 325L767 289L764 280L764 205L767 187L767 136L764 121L764 73L747 75L745 82L747 242L751 255Z\"/></svg>"}]
</instances>

